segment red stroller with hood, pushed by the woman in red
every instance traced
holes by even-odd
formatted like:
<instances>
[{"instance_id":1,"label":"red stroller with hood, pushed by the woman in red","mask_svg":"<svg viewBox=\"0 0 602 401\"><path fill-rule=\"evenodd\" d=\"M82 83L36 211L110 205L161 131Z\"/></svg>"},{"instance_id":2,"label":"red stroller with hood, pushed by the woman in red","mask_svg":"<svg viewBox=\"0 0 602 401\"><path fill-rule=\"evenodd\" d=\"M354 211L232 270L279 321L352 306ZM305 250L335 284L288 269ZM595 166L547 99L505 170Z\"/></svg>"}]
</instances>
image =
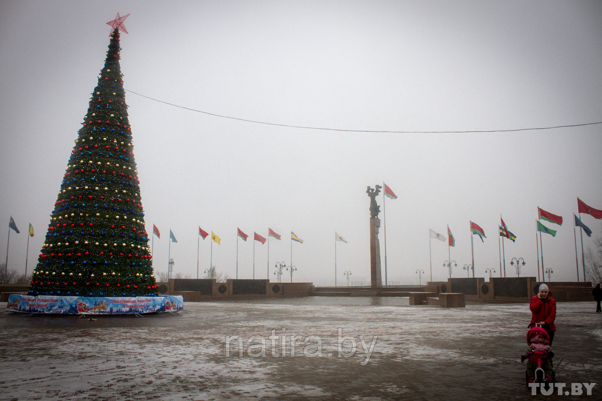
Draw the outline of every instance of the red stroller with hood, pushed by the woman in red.
<instances>
[{"instance_id":1,"label":"red stroller with hood, pushed by the woman in red","mask_svg":"<svg viewBox=\"0 0 602 401\"><path fill-rule=\"evenodd\" d=\"M541 349L540 350L535 349L535 348L546 348L545 345L549 346L550 345L550 336L548 335L547 331L545 331L544 328L539 326L538 323L532 323L531 325L529 325L529 327L530 327L529 331L527 332L527 344L529 344L529 348L531 350L528 350L526 352L526 355L523 355L523 357L521 357L521 362L528 358L530 364L532 365L532 367L534 369L534 374L533 374L533 376L530 376L529 370L525 370L525 381L526 381L527 385L529 385L529 382L534 382L534 383L544 383L544 384L553 386L554 382L556 382L556 372L554 372L554 370L551 370L551 375L549 373L548 373L548 375L546 375L544 368L549 363L548 370L551 369L552 357L554 356L554 353L551 350L545 351L545 350L541 350ZM536 343L538 343L538 341L537 341L538 337L543 338L543 343L537 344L537 345L542 345L543 347L541 347L541 346L538 347L536 345ZM549 347L547 347L547 348L549 348Z\"/></svg>"}]
</instances>

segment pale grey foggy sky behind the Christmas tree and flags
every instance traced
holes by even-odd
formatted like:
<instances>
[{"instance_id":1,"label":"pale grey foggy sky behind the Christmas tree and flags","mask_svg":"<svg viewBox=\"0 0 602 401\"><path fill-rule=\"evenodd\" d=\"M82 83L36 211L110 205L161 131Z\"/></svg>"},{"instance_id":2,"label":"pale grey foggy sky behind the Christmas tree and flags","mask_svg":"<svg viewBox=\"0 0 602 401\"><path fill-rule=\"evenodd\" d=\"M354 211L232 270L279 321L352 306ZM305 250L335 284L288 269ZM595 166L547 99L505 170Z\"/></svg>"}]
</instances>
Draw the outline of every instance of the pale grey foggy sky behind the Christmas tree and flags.
<instances>
[{"instance_id":1,"label":"pale grey foggy sky behind the Christmas tree and flags","mask_svg":"<svg viewBox=\"0 0 602 401\"><path fill-rule=\"evenodd\" d=\"M506 130L602 121L599 1L1 1L0 219L9 268L28 270L49 214L116 13L125 20L124 87L188 108L249 120L350 130ZM536 208L563 216L544 236L553 280L575 280L572 213L577 197L602 209L602 124L495 133L401 134L294 129L212 117L126 94L154 266L196 277L197 230L215 231L213 263L250 278L253 231L271 227L270 277L290 262L295 281L367 281L366 186L386 182L388 278L429 273L429 228L456 238L453 277L471 263L499 275L500 213L517 236L512 257L536 275ZM382 197L380 218L382 213ZM582 215L600 234L601 221ZM579 234L579 233L577 233ZM577 237L579 240L579 236ZM383 236L381 231L381 244ZM200 274L209 239L200 241ZM584 237L584 245L591 239ZM6 248L0 245L4 262ZM381 249L384 255L384 249ZM580 254L580 249L579 249ZM444 280L447 245L432 240L433 279ZM579 255L580 259L580 255ZM255 245L256 278L267 244ZM384 265L384 260L383 260ZM384 266L383 266L384 269ZM383 274L384 276L384 274ZM384 277L383 277L384 278ZM284 280L290 280L288 276Z\"/></svg>"}]
</instances>

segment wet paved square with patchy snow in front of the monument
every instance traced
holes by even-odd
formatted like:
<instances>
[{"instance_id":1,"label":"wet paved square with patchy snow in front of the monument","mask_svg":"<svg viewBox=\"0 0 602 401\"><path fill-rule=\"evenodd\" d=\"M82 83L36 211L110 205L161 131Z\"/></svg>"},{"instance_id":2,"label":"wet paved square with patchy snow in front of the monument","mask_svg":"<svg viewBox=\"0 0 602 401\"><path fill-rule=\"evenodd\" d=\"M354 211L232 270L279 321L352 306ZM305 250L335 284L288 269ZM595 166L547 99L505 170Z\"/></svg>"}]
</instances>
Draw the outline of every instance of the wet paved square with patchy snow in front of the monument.
<instances>
[{"instance_id":1,"label":"wet paved square with patchy snow in front of the monument","mask_svg":"<svg viewBox=\"0 0 602 401\"><path fill-rule=\"evenodd\" d=\"M556 381L524 382L527 304L185 302L145 317L0 314L0 400L602 399L602 314L558 304ZM377 336L377 337L376 337ZM597 383L592 395L572 383Z\"/></svg>"}]
</instances>

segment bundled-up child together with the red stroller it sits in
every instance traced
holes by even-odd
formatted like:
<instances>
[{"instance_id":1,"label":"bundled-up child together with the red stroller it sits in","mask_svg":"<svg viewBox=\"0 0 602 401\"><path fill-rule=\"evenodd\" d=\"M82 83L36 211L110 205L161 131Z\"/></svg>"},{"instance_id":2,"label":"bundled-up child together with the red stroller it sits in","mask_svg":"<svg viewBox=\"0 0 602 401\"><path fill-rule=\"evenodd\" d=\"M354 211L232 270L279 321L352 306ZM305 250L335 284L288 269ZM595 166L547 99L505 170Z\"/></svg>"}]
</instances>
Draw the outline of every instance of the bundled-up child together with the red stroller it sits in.
<instances>
[{"instance_id":1,"label":"bundled-up child together with the red stroller it sits in","mask_svg":"<svg viewBox=\"0 0 602 401\"><path fill-rule=\"evenodd\" d=\"M533 382L554 382L552 357L554 352L550 347L550 336L544 328L532 323L527 332L527 350L521 356L521 362L527 360L525 373L527 384ZM531 326L531 325L530 325Z\"/></svg>"}]
</instances>

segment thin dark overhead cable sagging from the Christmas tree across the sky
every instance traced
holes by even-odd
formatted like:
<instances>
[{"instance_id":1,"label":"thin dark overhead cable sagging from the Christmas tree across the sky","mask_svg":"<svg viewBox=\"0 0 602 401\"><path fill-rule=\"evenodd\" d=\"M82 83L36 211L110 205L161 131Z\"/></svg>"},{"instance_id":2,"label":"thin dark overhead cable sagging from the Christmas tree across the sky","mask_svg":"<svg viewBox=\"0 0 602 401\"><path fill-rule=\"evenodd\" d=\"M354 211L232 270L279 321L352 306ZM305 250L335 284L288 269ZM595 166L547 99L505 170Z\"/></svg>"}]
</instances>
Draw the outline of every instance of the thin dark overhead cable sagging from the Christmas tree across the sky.
<instances>
[{"instance_id":1,"label":"thin dark overhead cable sagging from the Christmas tree across the sky","mask_svg":"<svg viewBox=\"0 0 602 401\"><path fill-rule=\"evenodd\" d=\"M125 89L125 88L124 88ZM568 124L568 125L557 125L550 127L535 127L535 128L517 128L517 129L491 129L491 130L464 130L464 131L389 131L389 130L365 130L365 129L340 129L340 128L325 128L325 127L311 127L311 126L300 126L300 125L290 125L290 124L278 124L278 123L268 123L267 121L256 121L256 120L247 120L246 118L238 118L231 117L229 115L215 114L210 113L208 111L202 111L193 109L190 107L176 105L174 103L165 102L164 100L155 99L154 97L145 96L143 94L134 92L129 89L125 89L129 93L136 94L140 97L144 97L149 100L154 100L158 103L163 103L164 105L174 106L177 108L194 111L197 113L202 113L206 115L213 115L214 117L220 118L229 118L230 120L238 120L244 121L246 123L254 123L254 124L264 124L264 125L272 125L278 127L287 127L287 128L300 128L300 129L317 129L317 130L325 130L325 131L338 131L338 132L367 132L367 133L488 133L488 132L517 132L517 131L532 131L532 130L544 130L544 129L557 129L557 128L569 128L569 127L583 127L588 125L602 124L602 121L598 121L596 123L583 123L583 124Z\"/></svg>"}]
</instances>

